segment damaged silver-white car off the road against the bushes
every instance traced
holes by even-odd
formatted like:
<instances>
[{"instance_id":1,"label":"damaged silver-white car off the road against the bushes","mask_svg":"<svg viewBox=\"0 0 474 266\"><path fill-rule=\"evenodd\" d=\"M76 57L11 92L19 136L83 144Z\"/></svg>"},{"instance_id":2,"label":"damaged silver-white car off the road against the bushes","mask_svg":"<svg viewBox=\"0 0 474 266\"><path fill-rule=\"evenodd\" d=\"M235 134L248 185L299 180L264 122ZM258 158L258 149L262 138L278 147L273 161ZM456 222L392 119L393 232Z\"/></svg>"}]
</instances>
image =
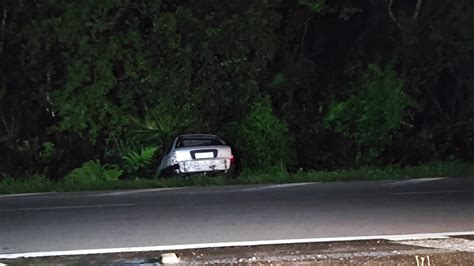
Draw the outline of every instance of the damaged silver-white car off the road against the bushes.
<instances>
[{"instance_id":1,"label":"damaged silver-white car off the road against the bushes","mask_svg":"<svg viewBox=\"0 0 474 266\"><path fill-rule=\"evenodd\" d=\"M234 168L232 149L224 140L210 134L188 134L178 136L170 144L157 175L231 174Z\"/></svg>"}]
</instances>

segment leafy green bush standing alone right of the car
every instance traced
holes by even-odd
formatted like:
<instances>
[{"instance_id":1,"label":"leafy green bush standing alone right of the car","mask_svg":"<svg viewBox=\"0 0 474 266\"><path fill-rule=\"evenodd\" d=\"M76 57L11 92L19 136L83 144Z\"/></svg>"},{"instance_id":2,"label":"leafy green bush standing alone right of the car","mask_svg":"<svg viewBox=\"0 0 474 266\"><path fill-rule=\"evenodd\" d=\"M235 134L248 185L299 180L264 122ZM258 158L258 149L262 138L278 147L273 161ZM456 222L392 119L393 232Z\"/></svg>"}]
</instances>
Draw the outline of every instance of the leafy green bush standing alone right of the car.
<instances>
[{"instance_id":1,"label":"leafy green bush standing alone right of the car","mask_svg":"<svg viewBox=\"0 0 474 266\"><path fill-rule=\"evenodd\" d=\"M369 65L348 99L333 103L326 116L328 125L358 147L357 159L377 158L406 119L410 98L405 84L391 66Z\"/></svg>"}]
</instances>

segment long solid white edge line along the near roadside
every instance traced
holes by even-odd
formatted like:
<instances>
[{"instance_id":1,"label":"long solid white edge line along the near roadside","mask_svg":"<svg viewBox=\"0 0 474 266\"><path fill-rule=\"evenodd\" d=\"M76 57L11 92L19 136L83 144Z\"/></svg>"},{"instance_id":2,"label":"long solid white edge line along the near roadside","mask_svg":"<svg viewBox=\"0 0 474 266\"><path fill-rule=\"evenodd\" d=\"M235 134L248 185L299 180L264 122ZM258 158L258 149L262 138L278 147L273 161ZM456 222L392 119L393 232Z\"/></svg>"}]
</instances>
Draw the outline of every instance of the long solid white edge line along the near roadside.
<instances>
[{"instance_id":1,"label":"long solid white edge line along the near roadside","mask_svg":"<svg viewBox=\"0 0 474 266\"><path fill-rule=\"evenodd\" d=\"M424 237L426 239L433 239L433 238L439 238L440 236L464 236L464 235L474 235L474 231L444 232L444 233L423 233L423 234L406 234L406 235L377 235L377 236L352 236L352 237L323 237L323 238L302 238L302 239L257 240L257 241L198 243L198 244L163 245L163 246L147 246L147 247L125 247L125 248L81 249L81 250L65 250L65 251L43 251L43 252L0 254L0 259L17 259L17 258L51 257L51 256L71 256L71 255L91 255L91 254L107 254L107 253L122 253L122 252L170 251L170 250L184 250L184 249L242 247L242 246L259 246L259 245L323 243L323 242L338 242L338 241L360 241L360 240L380 240L380 239L390 240L390 239L394 239L396 237L404 238L404 239L419 239L420 237Z\"/></svg>"}]
</instances>

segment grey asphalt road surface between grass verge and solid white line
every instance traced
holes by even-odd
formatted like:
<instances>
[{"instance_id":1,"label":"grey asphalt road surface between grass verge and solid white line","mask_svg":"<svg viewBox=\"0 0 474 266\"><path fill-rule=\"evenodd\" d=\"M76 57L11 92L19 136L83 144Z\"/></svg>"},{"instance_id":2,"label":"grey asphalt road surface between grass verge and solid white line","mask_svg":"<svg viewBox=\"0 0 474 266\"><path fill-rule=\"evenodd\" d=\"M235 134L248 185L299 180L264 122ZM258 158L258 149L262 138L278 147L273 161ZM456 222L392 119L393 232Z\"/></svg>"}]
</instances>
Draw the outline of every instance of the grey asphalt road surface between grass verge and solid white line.
<instances>
[{"instance_id":1,"label":"grey asphalt road surface between grass verge and solid white line","mask_svg":"<svg viewBox=\"0 0 474 266\"><path fill-rule=\"evenodd\" d=\"M0 196L0 254L474 231L474 178Z\"/></svg>"}]
</instances>

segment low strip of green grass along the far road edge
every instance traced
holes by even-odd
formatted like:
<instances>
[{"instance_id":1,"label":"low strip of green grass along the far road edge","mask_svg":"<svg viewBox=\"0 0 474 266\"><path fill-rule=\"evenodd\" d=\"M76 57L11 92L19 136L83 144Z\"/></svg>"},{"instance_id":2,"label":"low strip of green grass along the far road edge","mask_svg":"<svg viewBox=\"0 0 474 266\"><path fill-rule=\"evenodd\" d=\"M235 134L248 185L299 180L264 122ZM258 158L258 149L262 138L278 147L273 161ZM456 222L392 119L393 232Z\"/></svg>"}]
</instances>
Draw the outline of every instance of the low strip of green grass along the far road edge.
<instances>
[{"instance_id":1,"label":"low strip of green grass along the far road edge","mask_svg":"<svg viewBox=\"0 0 474 266\"><path fill-rule=\"evenodd\" d=\"M136 178L133 180L101 181L94 183L70 183L51 181L42 176L24 179L0 180L0 193L32 193L47 191L92 191L143 189L183 186L223 186L249 184L280 184L295 182L331 182L356 180L411 179L440 176L474 176L474 163L437 162L410 167L365 167L339 171L308 171L297 173L244 173L237 178L195 176L185 179L174 177L167 179Z\"/></svg>"}]
</instances>

